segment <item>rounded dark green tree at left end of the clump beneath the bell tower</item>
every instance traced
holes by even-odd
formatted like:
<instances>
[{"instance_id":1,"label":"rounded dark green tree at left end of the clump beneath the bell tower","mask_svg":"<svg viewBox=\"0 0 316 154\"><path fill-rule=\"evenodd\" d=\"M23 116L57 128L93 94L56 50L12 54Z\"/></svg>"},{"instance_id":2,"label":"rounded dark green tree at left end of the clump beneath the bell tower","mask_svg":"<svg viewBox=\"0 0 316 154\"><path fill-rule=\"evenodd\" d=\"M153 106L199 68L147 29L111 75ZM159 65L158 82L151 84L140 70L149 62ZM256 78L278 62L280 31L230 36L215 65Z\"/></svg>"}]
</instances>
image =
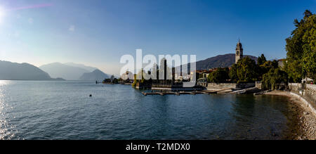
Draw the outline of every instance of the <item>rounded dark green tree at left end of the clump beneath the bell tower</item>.
<instances>
[{"instance_id":1,"label":"rounded dark green tree at left end of the clump beneath the bell tower","mask_svg":"<svg viewBox=\"0 0 316 154\"><path fill-rule=\"evenodd\" d=\"M223 83L230 79L228 68L218 68L209 75L209 82Z\"/></svg>"}]
</instances>

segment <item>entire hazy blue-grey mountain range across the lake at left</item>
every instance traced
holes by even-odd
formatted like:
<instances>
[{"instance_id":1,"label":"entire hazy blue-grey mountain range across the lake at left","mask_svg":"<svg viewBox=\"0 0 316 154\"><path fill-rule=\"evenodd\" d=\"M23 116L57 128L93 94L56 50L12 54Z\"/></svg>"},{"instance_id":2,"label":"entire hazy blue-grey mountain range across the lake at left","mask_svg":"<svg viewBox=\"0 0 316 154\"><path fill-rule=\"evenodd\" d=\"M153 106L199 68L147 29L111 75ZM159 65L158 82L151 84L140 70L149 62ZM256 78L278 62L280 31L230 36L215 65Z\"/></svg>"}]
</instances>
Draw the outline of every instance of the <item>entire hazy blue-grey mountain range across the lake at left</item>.
<instances>
[{"instance_id":1,"label":"entire hazy blue-grey mountain range across the lake at left","mask_svg":"<svg viewBox=\"0 0 316 154\"><path fill-rule=\"evenodd\" d=\"M29 63L0 60L0 80L103 80L110 75L77 63L50 63L37 68Z\"/></svg>"}]
</instances>

